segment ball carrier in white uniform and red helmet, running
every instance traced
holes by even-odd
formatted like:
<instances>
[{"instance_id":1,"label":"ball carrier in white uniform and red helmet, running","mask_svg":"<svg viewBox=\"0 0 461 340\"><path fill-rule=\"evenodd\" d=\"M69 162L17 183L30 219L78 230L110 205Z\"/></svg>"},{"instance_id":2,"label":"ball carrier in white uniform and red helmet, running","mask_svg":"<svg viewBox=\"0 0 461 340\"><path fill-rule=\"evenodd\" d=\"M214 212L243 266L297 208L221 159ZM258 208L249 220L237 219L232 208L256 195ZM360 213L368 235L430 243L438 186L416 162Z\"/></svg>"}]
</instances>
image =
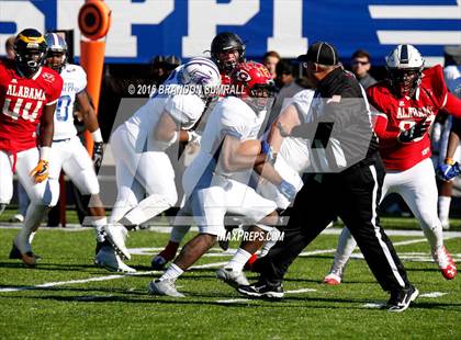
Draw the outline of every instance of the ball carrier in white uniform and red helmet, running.
<instances>
[{"instance_id":1,"label":"ball carrier in white uniform and red helmet, running","mask_svg":"<svg viewBox=\"0 0 461 340\"><path fill-rule=\"evenodd\" d=\"M248 186L254 166L270 159L270 151L246 155L241 149L244 141L257 139L273 97L273 81L265 66L252 61L239 64L231 78L232 84L243 91L239 98L226 97L213 109L203 133L200 154L188 167L182 179L188 196L182 209L193 213L199 225L199 235L182 248L160 279L150 282L150 294L183 296L176 290L175 281L218 237L225 235L226 213L243 215L252 224L277 224L276 203L263 199ZM295 188L284 181L273 168L265 167L261 175L277 184L286 196L294 196ZM243 268L263 242L266 230L259 226L250 227L248 233L261 237L244 240L229 267L218 271L220 279L231 285L248 284Z\"/></svg>"}]
</instances>

